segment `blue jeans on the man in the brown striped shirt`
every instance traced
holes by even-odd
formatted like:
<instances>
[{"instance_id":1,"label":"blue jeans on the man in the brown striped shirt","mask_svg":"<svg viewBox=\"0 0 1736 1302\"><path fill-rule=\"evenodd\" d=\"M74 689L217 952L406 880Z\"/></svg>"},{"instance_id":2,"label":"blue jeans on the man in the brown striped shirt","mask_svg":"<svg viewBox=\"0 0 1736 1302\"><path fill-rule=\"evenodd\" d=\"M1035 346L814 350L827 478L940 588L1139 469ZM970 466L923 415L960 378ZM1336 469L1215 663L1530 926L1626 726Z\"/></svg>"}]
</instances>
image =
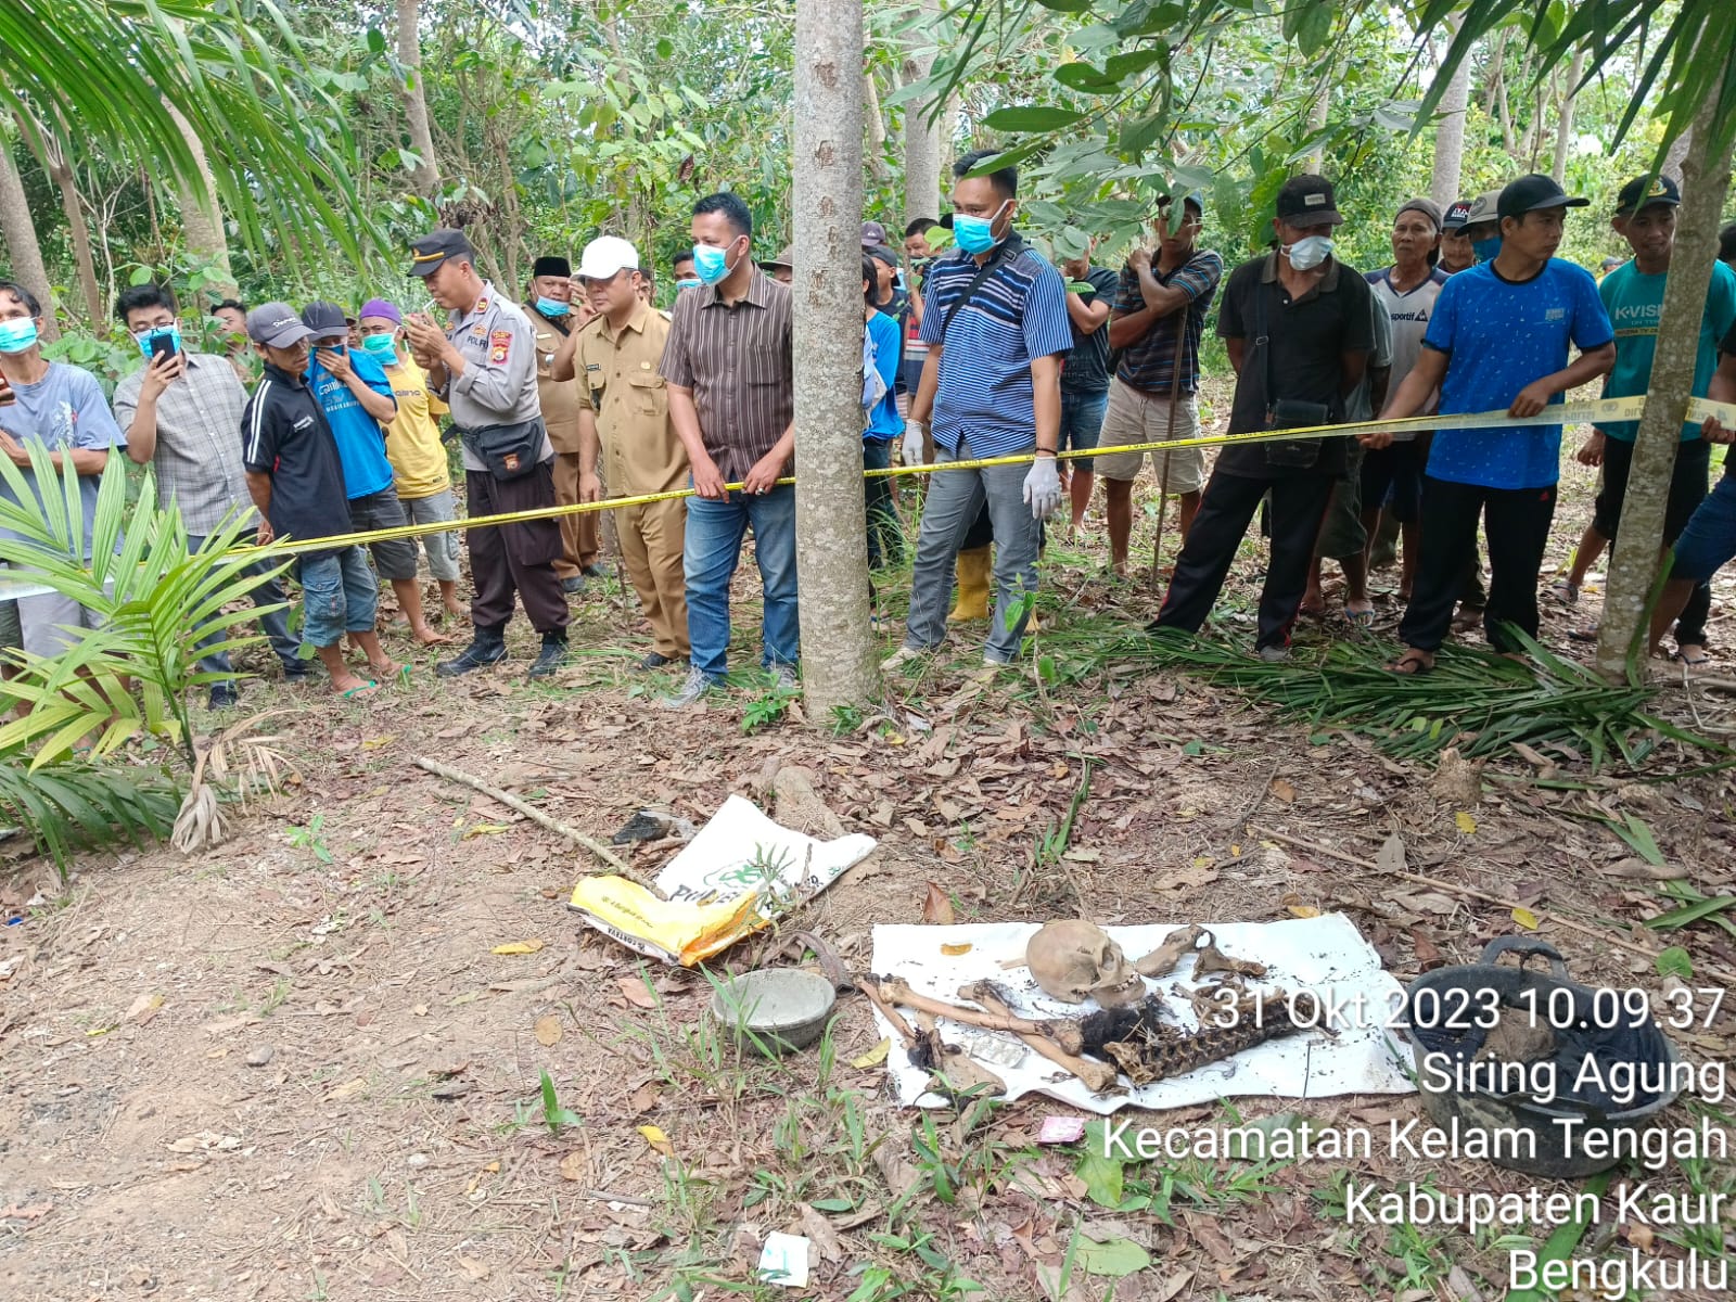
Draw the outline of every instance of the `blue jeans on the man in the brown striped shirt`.
<instances>
[{"instance_id":1,"label":"blue jeans on the man in the brown striped shirt","mask_svg":"<svg viewBox=\"0 0 1736 1302\"><path fill-rule=\"evenodd\" d=\"M729 580L741 540L753 528L753 556L766 589L760 665L793 665L800 649L795 606L795 484L762 495L687 498L682 571L687 582L687 641L693 667L720 679L729 672Z\"/></svg>"}]
</instances>

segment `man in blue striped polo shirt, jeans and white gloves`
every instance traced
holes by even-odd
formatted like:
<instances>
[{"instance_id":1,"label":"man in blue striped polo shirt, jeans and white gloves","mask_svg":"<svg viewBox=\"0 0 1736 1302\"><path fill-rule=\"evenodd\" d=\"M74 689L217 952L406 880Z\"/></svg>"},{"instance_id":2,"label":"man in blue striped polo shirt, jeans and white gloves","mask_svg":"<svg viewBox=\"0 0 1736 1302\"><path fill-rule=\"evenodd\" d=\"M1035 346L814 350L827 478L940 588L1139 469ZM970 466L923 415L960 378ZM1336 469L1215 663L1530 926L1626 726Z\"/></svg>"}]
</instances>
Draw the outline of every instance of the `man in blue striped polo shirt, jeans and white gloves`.
<instances>
[{"instance_id":1,"label":"man in blue striped polo shirt, jeans and white gloves","mask_svg":"<svg viewBox=\"0 0 1736 1302\"><path fill-rule=\"evenodd\" d=\"M898 668L946 637L953 562L988 503L995 526L995 618L983 663L1019 653L1036 592L1038 523L1061 505L1055 446L1061 437L1061 358L1073 349L1066 283L1012 229L1019 172L972 175L993 149L953 167L953 238L958 250L929 273L922 339L929 359L910 404L906 443L930 424L936 458L965 462L1029 455L1026 465L941 470L929 484L910 582L904 646L880 667Z\"/></svg>"}]
</instances>

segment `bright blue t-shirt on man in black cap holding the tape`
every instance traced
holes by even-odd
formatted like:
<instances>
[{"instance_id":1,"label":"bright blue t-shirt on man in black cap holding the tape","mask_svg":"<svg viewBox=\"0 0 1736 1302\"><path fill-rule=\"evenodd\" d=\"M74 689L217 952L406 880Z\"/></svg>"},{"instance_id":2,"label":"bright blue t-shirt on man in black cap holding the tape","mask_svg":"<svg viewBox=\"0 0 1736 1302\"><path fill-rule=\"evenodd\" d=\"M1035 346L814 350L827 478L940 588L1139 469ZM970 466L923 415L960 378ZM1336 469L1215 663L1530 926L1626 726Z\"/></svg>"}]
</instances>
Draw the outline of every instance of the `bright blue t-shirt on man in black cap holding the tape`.
<instances>
[{"instance_id":1,"label":"bright blue t-shirt on man in black cap holding the tape","mask_svg":"<svg viewBox=\"0 0 1736 1302\"><path fill-rule=\"evenodd\" d=\"M1446 352L1441 415L1505 411L1533 380L1568 365L1568 347L1601 349L1614 337L1585 267L1552 257L1526 281L1503 279L1493 262L1441 286L1424 347ZM1561 403L1561 394L1549 399ZM1549 488L1561 477L1561 425L1443 425L1429 474L1483 488Z\"/></svg>"}]
</instances>

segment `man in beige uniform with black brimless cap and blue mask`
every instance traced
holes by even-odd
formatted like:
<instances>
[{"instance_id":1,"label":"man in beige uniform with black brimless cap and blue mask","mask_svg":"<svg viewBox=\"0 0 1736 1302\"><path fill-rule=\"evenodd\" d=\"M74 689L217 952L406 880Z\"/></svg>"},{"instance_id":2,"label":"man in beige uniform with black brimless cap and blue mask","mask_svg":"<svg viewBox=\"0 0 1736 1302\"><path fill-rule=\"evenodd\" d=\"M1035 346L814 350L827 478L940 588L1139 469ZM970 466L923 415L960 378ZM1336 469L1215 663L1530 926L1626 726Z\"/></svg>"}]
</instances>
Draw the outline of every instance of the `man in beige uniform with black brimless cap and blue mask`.
<instances>
[{"instance_id":1,"label":"man in beige uniform with black brimless cap and blue mask","mask_svg":"<svg viewBox=\"0 0 1736 1302\"><path fill-rule=\"evenodd\" d=\"M578 502L578 477L583 462L578 448L578 385L573 380L573 347L578 344L583 316L573 311L573 266L564 257L540 257L531 264L524 314L536 335L536 398L543 424L554 444L554 500L568 507ZM564 378L557 378L564 377ZM590 464L595 469L595 462ZM585 578L601 575L597 568L597 517L561 516L561 559L554 562L561 590L568 595L585 590Z\"/></svg>"}]
</instances>

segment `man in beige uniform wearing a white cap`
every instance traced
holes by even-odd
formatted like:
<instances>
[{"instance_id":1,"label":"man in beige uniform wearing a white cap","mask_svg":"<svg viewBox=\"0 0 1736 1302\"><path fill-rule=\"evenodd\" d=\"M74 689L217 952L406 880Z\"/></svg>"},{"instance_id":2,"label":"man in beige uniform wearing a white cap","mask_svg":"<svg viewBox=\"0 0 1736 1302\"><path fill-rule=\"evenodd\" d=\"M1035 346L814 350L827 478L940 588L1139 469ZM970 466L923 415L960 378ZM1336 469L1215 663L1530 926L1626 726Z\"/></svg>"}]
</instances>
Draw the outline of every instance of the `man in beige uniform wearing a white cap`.
<instances>
[{"instance_id":1,"label":"man in beige uniform wearing a white cap","mask_svg":"<svg viewBox=\"0 0 1736 1302\"><path fill-rule=\"evenodd\" d=\"M606 234L585 245L578 262L597 316L578 332L578 446L585 467L578 481L583 502L602 496L602 472L611 496L668 493L687 486L687 450L668 420L668 389L658 363L668 340L668 319L639 293L639 250ZM627 575L651 620L653 649L641 668L686 660L687 589L681 549L687 503L651 502L616 512L616 535Z\"/></svg>"}]
</instances>

